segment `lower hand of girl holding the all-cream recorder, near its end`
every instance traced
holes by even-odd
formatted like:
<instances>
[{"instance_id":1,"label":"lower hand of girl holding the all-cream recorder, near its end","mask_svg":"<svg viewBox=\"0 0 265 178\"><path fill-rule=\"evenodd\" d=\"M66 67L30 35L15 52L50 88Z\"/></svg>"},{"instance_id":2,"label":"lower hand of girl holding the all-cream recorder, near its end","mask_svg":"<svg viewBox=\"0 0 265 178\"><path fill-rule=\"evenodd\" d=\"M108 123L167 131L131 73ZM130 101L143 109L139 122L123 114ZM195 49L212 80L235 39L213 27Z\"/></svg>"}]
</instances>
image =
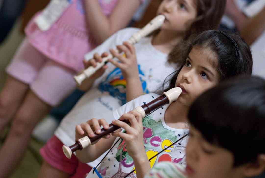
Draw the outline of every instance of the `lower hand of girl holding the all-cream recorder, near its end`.
<instances>
[{"instance_id":1,"label":"lower hand of girl holding the all-cream recorder, near its end","mask_svg":"<svg viewBox=\"0 0 265 178\"><path fill-rule=\"evenodd\" d=\"M102 58L107 57L107 56L108 56L107 52L102 53L101 56L98 53L95 53L92 59L90 59L88 61L83 60L84 68L87 69L90 66L96 67L97 62L102 62ZM108 68L108 66L104 65L99 70L97 70L93 75L91 75L90 78L92 78L92 79L99 78L101 75L103 75L103 73L105 72L105 70L107 68Z\"/></svg>"}]
</instances>

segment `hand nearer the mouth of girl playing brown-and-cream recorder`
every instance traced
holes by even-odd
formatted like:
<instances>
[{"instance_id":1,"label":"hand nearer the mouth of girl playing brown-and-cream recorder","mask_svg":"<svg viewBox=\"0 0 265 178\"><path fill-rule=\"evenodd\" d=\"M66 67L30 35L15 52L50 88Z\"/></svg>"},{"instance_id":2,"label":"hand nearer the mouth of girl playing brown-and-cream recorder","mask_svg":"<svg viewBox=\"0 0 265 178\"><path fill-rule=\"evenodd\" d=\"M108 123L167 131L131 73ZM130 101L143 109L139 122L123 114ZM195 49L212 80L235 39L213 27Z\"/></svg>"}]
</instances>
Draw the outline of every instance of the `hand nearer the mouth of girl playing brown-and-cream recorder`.
<instances>
[{"instance_id":1,"label":"hand nearer the mouth of girl playing brown-and-cream recorder","mask_svg":"<svg viewBox=\"0 0 265 178\"><path fill-rule=\"evenodd\" d=\"M130 125L120 120L112 121L113 125L120 126L124 132L113 132L114 137L121 137L125 143L129 155L133 159L142 159L146 157L145 148L144 148L144 137L143 137L143 122L142 115L138 111L130 111L127 114L123 114L120 117L120 120L129 120Z\"/></svg>"}]
</instances>

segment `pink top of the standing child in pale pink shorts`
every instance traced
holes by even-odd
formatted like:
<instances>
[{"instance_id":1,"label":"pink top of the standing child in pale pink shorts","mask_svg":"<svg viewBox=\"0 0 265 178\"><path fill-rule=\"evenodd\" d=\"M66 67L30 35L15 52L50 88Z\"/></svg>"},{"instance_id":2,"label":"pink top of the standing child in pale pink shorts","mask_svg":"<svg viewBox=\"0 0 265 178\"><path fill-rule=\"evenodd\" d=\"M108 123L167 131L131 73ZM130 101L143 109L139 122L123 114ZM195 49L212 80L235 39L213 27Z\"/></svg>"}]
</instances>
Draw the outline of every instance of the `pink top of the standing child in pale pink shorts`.
<instances>
[{"instance_id":1,"label":"pink top of the standing child in pale pink shorts","mask_svg":"<svg viewBox=\"0 0 265 178\"><path fill-rule=\"evenodd\" d=\"M68 0L70 6L48 29L41 31L34 22L38 12L25 33L30 43L50 59L75 71L83 68L84 55L97 46L86 24L83 0ZM104 14L111 14L118 0L99 0Z\"/></svg>"}]
</instances>

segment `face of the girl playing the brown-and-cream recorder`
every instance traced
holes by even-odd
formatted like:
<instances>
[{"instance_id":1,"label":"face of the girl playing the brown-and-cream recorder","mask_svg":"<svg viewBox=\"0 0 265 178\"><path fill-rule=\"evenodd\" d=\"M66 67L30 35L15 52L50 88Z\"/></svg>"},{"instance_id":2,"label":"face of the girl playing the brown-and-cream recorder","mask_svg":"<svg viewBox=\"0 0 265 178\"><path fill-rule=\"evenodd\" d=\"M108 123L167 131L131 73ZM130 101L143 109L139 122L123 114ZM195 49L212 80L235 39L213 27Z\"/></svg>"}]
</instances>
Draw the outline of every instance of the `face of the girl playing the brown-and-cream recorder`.
<instances>
[{"instance_id":1,"label":"face of the girl playing the brown-and-cream recorder","mask_svg":"<svg viewBox=\"0 0 265 178\"><path fill-rule=\"evenodd\" d=\"M219 82L217 66L217 57L209 49L192 48L176 79L175 87L182 89L177 101L190 106L200 94L215 86Z\"/></svg>"}]
</instances>

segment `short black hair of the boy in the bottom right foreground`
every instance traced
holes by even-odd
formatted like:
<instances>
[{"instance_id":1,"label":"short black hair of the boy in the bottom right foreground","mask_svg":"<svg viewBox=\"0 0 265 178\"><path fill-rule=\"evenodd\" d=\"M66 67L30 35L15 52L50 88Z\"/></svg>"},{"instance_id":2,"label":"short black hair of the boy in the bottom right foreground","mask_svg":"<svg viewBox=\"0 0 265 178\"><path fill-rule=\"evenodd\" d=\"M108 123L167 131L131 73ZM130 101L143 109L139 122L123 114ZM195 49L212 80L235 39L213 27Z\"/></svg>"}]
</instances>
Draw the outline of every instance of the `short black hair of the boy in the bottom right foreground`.
<instances>
[{"instance_id":1,"label":"short black hair of the boy in the bottom right foreground","mask_svg":"<svg viewBox=\"0 0 265 178\"><path fill-rule=\"evenodd\" d=\"M210 143L232 152L234 166L265 154L265 80L238 77L206 91L191 105L188 120Z\"/></svg>"}]
</instances>

